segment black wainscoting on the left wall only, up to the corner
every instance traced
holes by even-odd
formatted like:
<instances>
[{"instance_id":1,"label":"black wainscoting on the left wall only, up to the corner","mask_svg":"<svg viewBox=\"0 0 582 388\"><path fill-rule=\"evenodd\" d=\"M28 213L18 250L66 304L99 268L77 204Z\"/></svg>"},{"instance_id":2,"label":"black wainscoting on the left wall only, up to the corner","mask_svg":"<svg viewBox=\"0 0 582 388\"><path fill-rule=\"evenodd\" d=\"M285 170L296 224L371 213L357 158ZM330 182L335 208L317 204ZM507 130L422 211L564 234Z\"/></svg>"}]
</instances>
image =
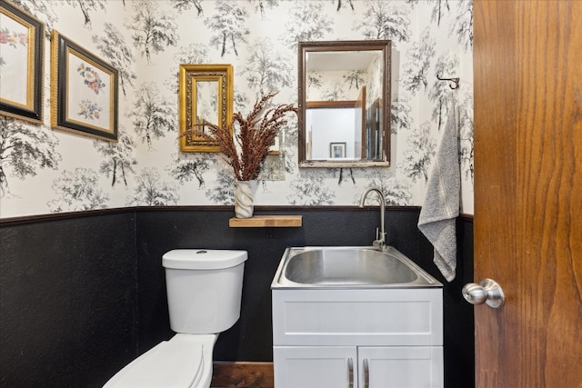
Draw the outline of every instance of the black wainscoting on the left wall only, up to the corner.
<instances>
[{"instance_id":1,"label":"black wainscoting on the left wall only, up to the corner","mask_svg":"<svg viewBox=\"0 0 582 388\"><path fill-rule=\"evenodd\" d=\"M0 386L100 387L137 354L135 213L0 223Z\"/></svg>"}]
</instances>

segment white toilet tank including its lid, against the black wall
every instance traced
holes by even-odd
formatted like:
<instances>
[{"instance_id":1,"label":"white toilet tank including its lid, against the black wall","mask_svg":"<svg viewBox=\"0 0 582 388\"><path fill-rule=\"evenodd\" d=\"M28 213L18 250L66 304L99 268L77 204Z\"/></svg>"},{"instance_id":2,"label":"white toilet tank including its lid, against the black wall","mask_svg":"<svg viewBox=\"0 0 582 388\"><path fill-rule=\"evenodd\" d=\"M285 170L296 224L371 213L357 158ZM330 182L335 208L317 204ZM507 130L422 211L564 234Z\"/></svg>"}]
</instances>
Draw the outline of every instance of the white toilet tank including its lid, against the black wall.
<instances>
[{"instance_id":1,"label":"white toilet tank including its lid, against the black wall","mask_svg":"<svg viewBox=\"0 0 582 388\"><path fill-rule=\"evenodd\" d=\"M246 251L176 249L162 256L170 327L220 333L240 316Z\"/></svg>"}]
</instances>

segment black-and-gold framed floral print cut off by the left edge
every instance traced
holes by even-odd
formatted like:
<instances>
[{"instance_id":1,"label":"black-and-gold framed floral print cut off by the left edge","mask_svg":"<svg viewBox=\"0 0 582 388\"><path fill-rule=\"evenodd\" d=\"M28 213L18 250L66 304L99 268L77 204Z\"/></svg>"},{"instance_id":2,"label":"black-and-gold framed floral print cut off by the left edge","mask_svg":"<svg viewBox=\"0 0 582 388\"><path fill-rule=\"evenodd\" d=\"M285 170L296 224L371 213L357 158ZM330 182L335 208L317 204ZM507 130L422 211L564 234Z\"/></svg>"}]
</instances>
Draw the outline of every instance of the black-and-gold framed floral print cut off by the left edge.
<instances>
[{"instance_id":1,"label":"black-and-gold framed floral print cut off by the left edge","mask_svg":"<svg viewBox=\"0 0 582 388\"><path fill-rule=\"evenodd\" d=\"M0 114L43 123L45 24L0 0Z\"/></svg>"}]
</instances>

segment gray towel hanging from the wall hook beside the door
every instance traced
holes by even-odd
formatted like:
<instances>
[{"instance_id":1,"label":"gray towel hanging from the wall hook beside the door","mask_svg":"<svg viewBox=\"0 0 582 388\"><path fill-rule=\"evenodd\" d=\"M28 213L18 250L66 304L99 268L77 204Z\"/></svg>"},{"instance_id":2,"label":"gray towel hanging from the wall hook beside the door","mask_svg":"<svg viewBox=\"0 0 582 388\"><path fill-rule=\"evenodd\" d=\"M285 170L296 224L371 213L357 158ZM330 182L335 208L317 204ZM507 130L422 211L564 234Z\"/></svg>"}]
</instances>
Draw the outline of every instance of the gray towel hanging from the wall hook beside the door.
<instances>
[{"instance_id":1,"label":"gray towel hanging from the wall hook beside the door","mask_svg":"<svg viewBox=\"0 0 582 388\"><path fill-rule=\"evenodd\" d=\"M457 134L457 108L453 103L418 218L418 229L435 247L433 261L448 282L455 279L457 269L456 219L461 191Z\"/></svg>"}]
</instances>

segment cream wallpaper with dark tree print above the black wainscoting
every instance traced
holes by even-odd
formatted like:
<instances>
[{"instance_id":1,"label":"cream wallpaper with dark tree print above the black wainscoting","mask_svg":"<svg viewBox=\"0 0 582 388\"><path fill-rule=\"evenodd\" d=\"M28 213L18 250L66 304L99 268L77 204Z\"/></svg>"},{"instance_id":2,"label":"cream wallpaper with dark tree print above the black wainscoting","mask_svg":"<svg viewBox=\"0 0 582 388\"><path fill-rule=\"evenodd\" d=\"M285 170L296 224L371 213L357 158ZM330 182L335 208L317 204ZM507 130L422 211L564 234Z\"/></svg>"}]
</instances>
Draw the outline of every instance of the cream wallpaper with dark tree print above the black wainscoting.
<instances>
[{"instance_id":1,"label":"cream wallpaper with dark tree print above the black wainscoting","mask_svg":"<svg viewBox=\"0 0 582 388\"><path fill-rule=\"evenodd\" d=\"M3 0L4 1L4 0ZM0 217L134 205L234 204L221 154L178 151L179 64L231 64L235 111L278 92L297 101L296 43L390 39L392 165L297 167L296 119L261 175L257 205L350 205L370 185L422 205L448 111L457 102L462 213L473 213L470 0L13 0L45 23L45 119L0 115ZM119 140L50 128L50 31L119 70ZM9 42L0 26L0 52ZM0 64L0 72L2 65ZM90 69L80 69L98 88ZM437 75L460 77L452 89Z\"/></svg>"}]
</instances>

